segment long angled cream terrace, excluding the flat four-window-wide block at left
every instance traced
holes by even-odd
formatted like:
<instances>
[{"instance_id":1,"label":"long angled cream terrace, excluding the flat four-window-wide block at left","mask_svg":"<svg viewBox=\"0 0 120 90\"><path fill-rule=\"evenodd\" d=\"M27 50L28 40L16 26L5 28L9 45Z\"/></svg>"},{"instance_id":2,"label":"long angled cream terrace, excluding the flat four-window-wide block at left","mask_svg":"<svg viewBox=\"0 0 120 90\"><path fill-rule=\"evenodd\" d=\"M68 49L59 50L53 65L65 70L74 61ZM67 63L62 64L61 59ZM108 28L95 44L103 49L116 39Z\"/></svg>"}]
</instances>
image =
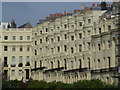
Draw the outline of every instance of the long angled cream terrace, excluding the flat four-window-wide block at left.
<instances>
[{"instance_id":1,"label":"long angled cream terrace, excluding the flat four-window-wide block at left","mask_svg":"<svg viewBox=\"0 0 120 90\"><path fill-rule=\"evenodd\" d=\"M103 3L105 5L105 3ZM31 77L72 83L101 79L117 83L116 25L106 7L85 8L38 24L33 30ZM105 18L104 18L105 17ZM116 18L116 16L115 16ZM106 19L106 21L104 21Z\"/></svg>"}]
</instances>

